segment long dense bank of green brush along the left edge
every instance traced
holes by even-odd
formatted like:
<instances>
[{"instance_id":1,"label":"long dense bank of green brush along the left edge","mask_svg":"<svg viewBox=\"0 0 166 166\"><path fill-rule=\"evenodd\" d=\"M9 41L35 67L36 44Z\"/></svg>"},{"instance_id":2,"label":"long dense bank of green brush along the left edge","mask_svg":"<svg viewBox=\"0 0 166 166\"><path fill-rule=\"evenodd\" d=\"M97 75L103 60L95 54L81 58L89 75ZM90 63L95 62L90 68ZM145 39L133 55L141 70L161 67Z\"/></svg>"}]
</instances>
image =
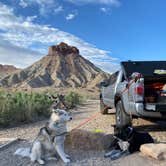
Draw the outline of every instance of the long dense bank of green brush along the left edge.
<instances>
[{"instance_id":1,"label":"long dense bank of green brush along the left edge","mask_svg":"<svg viewBox=\"0 0 166 166\"><path fill-rule=\"evenodd\" d=\"M50 105L51 101L45 94L0 91L0 126L48 117Z\"/></svg>"}]
</instances>

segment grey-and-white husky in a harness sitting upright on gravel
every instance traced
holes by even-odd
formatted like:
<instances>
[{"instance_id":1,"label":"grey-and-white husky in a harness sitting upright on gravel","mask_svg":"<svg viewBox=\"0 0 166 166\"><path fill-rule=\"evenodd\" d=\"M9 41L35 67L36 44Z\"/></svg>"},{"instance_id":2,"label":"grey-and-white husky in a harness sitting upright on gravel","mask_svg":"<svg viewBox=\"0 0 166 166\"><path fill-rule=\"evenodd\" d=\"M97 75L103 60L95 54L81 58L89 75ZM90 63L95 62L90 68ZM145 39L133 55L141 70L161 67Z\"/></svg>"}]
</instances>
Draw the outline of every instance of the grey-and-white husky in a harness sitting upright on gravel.
<instances>
[{"instance_id":1,"label":"grey-and-white husky in a harness sitting upright on gravel","mask_svg":"<svg viewBox=\"0 0 166 166\"><path fill-rule=\"evenodd\" d=\"M65 110L52 108L50 120L40 129L29 154L25 154L23 148L18 149L15 154L29 156L32 162L44 164L44 160L53 159L57 152L63 162L69 163L70 157L64 152L64 141L67 133L66 123L70 120L72 117Z\"/></svg>"}]
</instances>

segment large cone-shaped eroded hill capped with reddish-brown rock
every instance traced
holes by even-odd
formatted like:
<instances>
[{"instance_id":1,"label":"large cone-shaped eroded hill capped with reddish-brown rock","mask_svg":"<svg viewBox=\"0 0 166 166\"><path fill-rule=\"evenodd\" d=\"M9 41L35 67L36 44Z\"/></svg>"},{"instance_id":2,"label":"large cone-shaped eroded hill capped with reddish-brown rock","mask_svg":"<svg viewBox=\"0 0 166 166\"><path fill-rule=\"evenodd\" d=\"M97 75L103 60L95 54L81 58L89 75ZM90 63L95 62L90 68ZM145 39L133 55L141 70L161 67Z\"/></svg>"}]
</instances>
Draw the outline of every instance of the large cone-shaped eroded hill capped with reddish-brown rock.
<instances>
[{"instance_id":1,"label":"large cone-shaped eroded hill capped with reddish-brown rock","mask_svg":"<svg viewBox=\"0 0 166 166\"><path fill-rule=\"evenodd\" d=\"M76 47L60 43L49 47L48 55L30 67L1 80L5 87L95 87L108 78L79 54Z\"/></svg>"}]
</instances>

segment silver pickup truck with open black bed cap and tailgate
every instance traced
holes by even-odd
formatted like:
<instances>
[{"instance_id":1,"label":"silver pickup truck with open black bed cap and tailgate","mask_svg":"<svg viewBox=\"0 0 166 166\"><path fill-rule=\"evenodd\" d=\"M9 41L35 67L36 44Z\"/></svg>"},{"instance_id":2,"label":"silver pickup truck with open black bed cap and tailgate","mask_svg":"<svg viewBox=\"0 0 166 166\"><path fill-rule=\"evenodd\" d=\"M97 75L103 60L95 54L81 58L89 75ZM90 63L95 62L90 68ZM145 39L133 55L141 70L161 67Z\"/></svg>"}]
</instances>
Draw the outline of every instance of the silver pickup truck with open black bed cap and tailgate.
<instances>
[{"instance_id":1,"label":"silver pickup truck with open black bed cap and tailgate","mask_svg":"<svg viewBox=\"0 0 166 166\"><path fill-rule=\"evenodd\" d=\"M102 82L100 109L116 108L116 125L131 125L132 117L166 117L166 61L126 61Z\"/></svg>"}]
</instances>

